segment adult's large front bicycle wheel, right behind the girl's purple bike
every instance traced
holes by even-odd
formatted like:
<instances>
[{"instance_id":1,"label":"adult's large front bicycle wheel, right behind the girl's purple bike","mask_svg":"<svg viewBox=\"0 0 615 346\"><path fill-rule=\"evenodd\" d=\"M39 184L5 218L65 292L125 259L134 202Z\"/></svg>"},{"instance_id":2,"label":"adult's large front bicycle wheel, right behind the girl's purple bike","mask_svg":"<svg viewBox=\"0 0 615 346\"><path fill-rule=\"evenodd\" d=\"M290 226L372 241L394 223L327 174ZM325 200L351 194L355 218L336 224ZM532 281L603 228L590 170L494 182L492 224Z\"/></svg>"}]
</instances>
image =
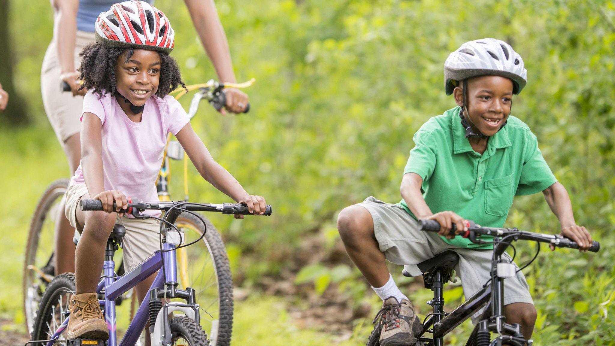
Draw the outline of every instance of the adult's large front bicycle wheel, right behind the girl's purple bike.
<instances>
[{"instance_id":1,"label":"adult's large front bicycle wheel, right behind the girl's purple bike","mask_svg":"<svg viewBox=\"0 0 615 346\"><path fill-rule=\"evenodd\" d=\"M212 262L214 264L213 268L215 270L217 284L216 286L218 288L217 291L219 300L217 328L213 326L213 323L212 326L207 325L208 315L206 313L200 314L201 325L205 324L205 331L210 337L210 344L212 346L229 346L231 344L232 316L234 305L232 295L231 267L229 265L228 255L226 254L226 247L224 247L224 242L222 241L220 234L218 233L212 222L210 222L210 220L208 220L202 215L201 217L205 220L205 223L207 225L207 231L205 232L205 236L203 237L202 241L200 241L199 243L201 244L201 246L204 244L207 247L208 254L210 255L210 258L212 259ZM175 224L189 225L189 227L186 228L196 231L197 235L194 235L192 240L196 240L196 238L198 238L198 236L200 236L204 231L203 223L200 221L200 219L195 215L189 214L187 212L181 214ZM188 234L186 234L186 243L188 243L189 241L191 241L191 238L189 238ZM185 249L187 249L187 251L192 250L196 252L202 252L197 250L199 249L199 247L196 247L196 245L197 244L188 246ZM178 275L180 273L181 265L178 263ZM180 285L181 284L182 283L180 282ZM201 304L201 302L199 302L198 296L199 289L197 287L191 286L191 284L192 283L189 283L188 285L185 284L184 286L189 286L196 290L196 302ZM201 307L204 307L205 309L208 308L207 306L204 306L202 304Z\"/></svg>"}]
</instances>

